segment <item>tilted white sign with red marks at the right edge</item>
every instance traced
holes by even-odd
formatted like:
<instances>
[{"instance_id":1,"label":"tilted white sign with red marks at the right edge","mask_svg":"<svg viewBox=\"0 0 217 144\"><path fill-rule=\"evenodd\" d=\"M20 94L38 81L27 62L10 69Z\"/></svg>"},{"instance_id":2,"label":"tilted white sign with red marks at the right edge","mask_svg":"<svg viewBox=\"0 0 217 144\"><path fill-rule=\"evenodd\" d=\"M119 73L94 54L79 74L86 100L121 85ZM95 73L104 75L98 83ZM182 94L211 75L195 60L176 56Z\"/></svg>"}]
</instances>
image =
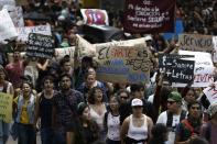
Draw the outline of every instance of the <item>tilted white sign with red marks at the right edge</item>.
<instances>
[{"instance_id":1,"label":"tilted white sign with red marks at the right edge","mask_svg":"<svg viewBox=\"0 0 217 144\"><path fill-rule=\"evenodd\" d=\"M206 89L203 90L203 92L206 95L210 103L217 102L217 82L215 82L215 88L207 87Z\"/></svg>"}]
</instances>

